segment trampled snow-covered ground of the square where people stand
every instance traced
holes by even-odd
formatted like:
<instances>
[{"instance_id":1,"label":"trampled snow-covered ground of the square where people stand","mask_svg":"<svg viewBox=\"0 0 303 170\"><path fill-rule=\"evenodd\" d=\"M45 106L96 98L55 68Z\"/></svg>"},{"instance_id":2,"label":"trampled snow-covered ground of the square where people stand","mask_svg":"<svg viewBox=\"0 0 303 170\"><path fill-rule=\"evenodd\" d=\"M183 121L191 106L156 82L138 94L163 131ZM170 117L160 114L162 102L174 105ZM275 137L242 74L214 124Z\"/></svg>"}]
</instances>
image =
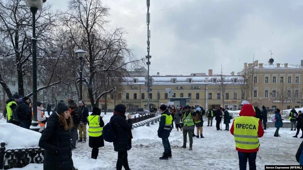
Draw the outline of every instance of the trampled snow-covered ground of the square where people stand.
<instances>
[{"instance_id":1,"label":"trampled snow-covered ground of the square where people stand","mask_svg":"<svg viewBox=\"0 0 303 170\"><path fill-rule=\"evenodd\" d=\"M105 124L109 121L112 113L104 115ZM232 121L232 120L231 120ZM204 139L194 138L193 150L180 149L183 144L182 132L173 129L169 141L172 148L172 158L167 161L159 160L163 146L157 136L158 123L151 126L142 126L132 130L134 139L132 149L128 151L130 168L135 170L234 170L238 169L238 153L235 150L235 142L229 131L217 131L215 126L207 127L204 123ZM215 120L213 122L215 125ZM231 126L231 124L230 124ZM225 125L222 123L222 128ZM292 138L295 131L286 128L280 129L281 137L274 137L275 128L268 128L260 138L259 154L257 156L257 169L264 169L264 165L298 165L295 154L302 142L300 138ZM301 135L301 133L300 133ZM0 140L3 140L0 138ZM38 140L38 138L37 138ZM20 141L20 140L19 140ZM289 147L289 144L292 144ZM187 143L189 147L189 141ZM77 149L73 151L73 161L79 170L114 170L117 160L117 152L112 143L105 142L105 147L100 148L97 160L90 159L91 148L86 143L77 143ZM22 170L42 170L43 165L31 164Z\"/></svg>"}]
</instances>

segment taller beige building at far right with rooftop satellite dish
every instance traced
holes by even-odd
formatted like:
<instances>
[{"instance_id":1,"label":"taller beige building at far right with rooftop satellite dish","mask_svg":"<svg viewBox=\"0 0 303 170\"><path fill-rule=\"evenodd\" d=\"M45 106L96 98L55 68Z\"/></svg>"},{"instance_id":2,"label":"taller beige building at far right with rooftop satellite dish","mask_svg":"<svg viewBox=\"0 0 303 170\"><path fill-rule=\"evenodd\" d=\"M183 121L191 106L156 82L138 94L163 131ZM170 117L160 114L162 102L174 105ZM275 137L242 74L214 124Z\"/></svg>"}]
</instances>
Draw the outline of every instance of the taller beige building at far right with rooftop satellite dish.
<instances>
[{"instance_id":1,"label":"taller beige building at far right with rooftop satellite dish","mask_svg":"<svg viewBox=\"0 0 303 170\"><path fill-rule=\"evenodd\" d=\"M283 110L302 107L303 63L273 64L273 60L271 62L262 64L256 60L254 64L244 63L244 69L253 67L256 71L254 74L256 86L252 94L253 105L276 109L281 108L283 103ZM243 74L243 71L239 74ZM283 89L285 93L282 92ZM284 101L280 101L281 96L284 96ZM247 98L251 99L251 94L248 94Z\"/></svg>"}]
</instances>

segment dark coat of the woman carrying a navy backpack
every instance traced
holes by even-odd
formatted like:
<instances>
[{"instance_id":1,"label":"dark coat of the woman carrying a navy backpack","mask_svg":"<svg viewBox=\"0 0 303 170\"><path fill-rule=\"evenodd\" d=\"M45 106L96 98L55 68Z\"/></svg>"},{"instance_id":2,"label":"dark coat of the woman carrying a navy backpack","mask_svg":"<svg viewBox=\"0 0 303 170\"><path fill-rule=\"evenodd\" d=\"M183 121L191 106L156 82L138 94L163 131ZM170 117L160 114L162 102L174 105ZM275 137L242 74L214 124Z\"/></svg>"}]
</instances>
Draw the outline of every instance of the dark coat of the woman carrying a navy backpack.
<instances>
[{"instance_id":1,"label":"dark coat of the woman carrying a navy backpack","mask_svg":"<svg viewBox=\"0 0 303 170\"><path fill-rule=\"evenodd\" d=\"M113 142L114 150L116 152L130 150L132 148L132 119L126 120L121 115L115 115L114 113L110 121L112 121L112 128L117 137Z\"/></svg>"}]
</instances>

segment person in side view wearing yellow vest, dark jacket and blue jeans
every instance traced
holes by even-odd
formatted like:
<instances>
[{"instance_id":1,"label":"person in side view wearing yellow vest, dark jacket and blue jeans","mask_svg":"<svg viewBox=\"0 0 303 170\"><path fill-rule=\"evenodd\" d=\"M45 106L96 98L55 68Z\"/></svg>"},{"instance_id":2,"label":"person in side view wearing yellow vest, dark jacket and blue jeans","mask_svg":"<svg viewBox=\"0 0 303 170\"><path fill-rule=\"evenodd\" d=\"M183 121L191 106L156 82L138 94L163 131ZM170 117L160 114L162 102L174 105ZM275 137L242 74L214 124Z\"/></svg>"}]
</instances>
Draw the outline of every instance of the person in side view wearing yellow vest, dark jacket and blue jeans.
<instances>
[{"instance_id":1,"label":"person in side view wearing yellow vest, dark jacket and blue jeans","mask_svg":"<svg viewBox=\"0 0 303 170\"><path fill-rule=\"evenodd\" d=\"M172 116L170 114L170 110L168 110L164 104L160 106L159 110L161 112L161 118L158 128L158 137L162 139L162 144L164 147L164 152L162 154L162 157L160 157L159 159L168 160L168 157L171 158L171 146L168 137L172 129L171 128Z\"/></svg>"}]
</instances>

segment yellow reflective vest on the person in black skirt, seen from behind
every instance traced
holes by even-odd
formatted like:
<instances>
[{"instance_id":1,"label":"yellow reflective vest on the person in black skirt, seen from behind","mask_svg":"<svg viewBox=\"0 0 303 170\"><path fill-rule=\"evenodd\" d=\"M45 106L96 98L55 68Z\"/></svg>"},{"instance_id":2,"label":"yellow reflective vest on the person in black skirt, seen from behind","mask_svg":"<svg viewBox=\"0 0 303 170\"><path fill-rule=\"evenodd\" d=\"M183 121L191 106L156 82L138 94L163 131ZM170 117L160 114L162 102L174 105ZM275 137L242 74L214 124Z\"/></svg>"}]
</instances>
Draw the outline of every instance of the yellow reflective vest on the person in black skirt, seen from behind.
<instances>
[{"instance_id":1,"label":"yellow reflective vest on the person in black skirt, seen from behind","mask_svg":"<svg viewBox=\"0 0 303 170\"><path fill-rule=\"evenodd\" d=\"M102 127L100 127L100 116L88 116L88 135L92 137L98 137L102 135Z\"/></svg>"}]
</instances>

